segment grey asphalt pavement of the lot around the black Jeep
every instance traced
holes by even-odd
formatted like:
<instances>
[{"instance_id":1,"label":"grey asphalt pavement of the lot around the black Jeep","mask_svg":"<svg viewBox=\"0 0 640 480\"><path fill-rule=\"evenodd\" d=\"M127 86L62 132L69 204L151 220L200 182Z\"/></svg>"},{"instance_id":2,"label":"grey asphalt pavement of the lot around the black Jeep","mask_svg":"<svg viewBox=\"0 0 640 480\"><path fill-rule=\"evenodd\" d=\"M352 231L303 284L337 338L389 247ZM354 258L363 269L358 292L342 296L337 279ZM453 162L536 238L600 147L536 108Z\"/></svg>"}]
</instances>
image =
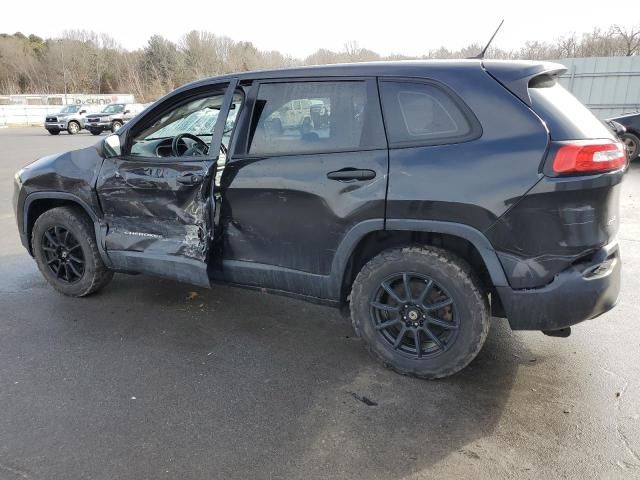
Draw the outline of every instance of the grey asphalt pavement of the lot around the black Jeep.
<instances>
[{"instance_id":1,"label":"grey asphalt pavement of the lot around the black Jeep","mask_svg":"<svg viewBox=\"0 0 640 480\"><path fill-rule=\"evenodd\" d=\"M127 275L56 293L18 239L13 174L100 138L0 130L0 479L640 478L640 163L618 306L568 339L494 319L429 382L328 307Z\"/></svg>"}]
</instances>

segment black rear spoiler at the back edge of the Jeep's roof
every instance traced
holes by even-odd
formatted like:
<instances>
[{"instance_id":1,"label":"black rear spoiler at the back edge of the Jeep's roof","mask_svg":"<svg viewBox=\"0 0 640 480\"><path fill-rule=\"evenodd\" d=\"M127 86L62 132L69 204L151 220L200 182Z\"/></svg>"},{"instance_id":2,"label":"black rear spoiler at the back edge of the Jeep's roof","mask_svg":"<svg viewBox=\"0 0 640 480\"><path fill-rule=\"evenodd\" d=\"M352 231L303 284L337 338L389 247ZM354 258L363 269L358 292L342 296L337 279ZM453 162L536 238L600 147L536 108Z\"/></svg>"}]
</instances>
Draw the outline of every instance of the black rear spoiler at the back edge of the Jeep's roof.
<instances>
[{"instance_id":1,"label":"black rear spoiler at the back edge of the Jeep's roof","mask_svg":"<svg viewBox=\"0 0 640 480\"><path fill-rule=\"evenodd\" d=\"M541 75L556 77L567 71L567 67L559 63L525 60L483 60L482 68L529 106L531 106L531 97L529 96L529 82L531 80Z\"/></svg>"}]
</instances>

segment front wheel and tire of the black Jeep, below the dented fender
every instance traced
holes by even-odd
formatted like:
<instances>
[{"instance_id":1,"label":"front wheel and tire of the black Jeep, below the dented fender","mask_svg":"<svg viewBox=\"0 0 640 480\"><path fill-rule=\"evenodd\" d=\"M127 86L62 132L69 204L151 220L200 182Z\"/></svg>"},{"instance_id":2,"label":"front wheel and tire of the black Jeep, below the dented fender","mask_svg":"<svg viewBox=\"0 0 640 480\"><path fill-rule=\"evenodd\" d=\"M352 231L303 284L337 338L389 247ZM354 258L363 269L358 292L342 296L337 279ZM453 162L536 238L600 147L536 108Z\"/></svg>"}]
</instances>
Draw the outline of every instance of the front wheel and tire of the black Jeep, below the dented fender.
<instances>
[{"instance_id":1,"label":"front wheel and tire of the black Jeep, below the dented fender","mask_svg":"<svg viewBox=\"0 0 640 480\"><path fill-rule=\"evenodd\" d=\"M55 247L56 244L60 246ZM31 245L40 272L53 288L64 295L90 295L113 278L113 272L100 257L93 225L80 208L57 207L43 213L33 226ZM64 267L60 266L60 258ZM81 259L84 264L74 261L74 258Z\"/></svg>"}]
</instances>

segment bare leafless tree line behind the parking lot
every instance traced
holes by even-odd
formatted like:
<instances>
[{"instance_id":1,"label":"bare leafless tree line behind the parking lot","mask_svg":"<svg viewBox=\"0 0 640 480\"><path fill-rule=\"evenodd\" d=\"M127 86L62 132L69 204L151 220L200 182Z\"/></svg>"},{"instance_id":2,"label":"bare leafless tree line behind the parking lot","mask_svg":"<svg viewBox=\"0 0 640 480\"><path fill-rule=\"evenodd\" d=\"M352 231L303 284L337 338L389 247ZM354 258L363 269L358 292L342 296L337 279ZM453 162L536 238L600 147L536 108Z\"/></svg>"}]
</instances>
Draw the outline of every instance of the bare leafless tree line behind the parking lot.
<instances>
[{"instance_id":1,"label":"bare leafless tree line behind the parking lot","mask_svg":"<svg viewBox=\"0 0 640 480\"><path fill-rule=\"evenodd\" d=\"M350 41L341 51L320 48L304 59L264 51L253 43L210 32L191 31L172 42L153 35L138 50L126 50L106 34L65 31L43 39L20 32L0 34L0 94L133 93L147 102L191 80L224 73L376 60L466 58L480 44L460 50L445 47L419 57L381 56ZM554 42L529 41L514 50L489 49L487 57L550 60L570 57L631 56L640 53L640 27L613 25Z\"/></svg>"}]
</instances>

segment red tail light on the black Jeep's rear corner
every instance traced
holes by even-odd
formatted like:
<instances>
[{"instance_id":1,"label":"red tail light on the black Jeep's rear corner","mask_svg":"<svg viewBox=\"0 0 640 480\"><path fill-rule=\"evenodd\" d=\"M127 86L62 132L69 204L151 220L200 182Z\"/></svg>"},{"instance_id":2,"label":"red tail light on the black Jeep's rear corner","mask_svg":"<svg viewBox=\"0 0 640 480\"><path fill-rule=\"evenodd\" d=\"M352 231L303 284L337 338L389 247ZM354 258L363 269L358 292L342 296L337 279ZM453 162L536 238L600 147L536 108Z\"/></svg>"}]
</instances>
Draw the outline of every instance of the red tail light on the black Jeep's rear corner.
<instances>
[{"instance_id":1,"label":"red tail light on the black Jeep's rear corner","mask_svg":"<svg viewBox=\"0 0 640 480\"><path fill-rule=\"evenodd\" d=\"M558 174L595 173L617 170L627 163L627 149L621 142L576 141L562 145L553 159Z\"/></svg>"}]
</instances>

